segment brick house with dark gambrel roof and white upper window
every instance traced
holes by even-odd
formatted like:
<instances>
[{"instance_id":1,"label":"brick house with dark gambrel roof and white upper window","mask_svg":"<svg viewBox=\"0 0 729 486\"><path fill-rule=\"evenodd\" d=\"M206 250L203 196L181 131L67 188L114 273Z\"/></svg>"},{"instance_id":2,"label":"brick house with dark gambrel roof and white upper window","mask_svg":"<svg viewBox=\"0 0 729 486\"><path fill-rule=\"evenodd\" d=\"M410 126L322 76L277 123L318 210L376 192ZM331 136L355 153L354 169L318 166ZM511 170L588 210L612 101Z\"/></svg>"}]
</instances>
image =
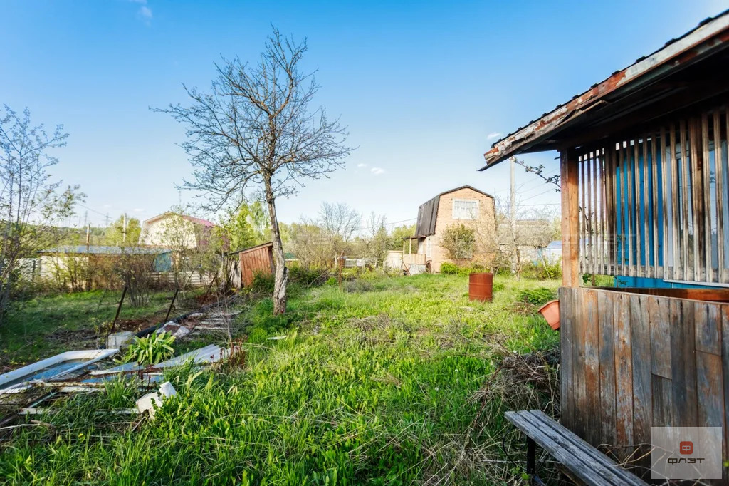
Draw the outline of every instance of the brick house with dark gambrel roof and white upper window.
<instances>
[{"instance_id":1,"label":"brick house with dark gambrel roof and white upper window","mask_svg":"<svg viewBox=\"0 0 729 486\"><path fill-rule=\"evenodd\" d=\"M418 208L416 234L410 239L416 254L403 256L411 263L424 263L431 271L440 272L442 263L451 262L440 244L443 234L454 223L462 223L476 230L477 241L470 261L484 261L488 258L488 242L484 240L496 233L495 215L494 197L482 190L469 185L446 190Z\"/></svg>"}]
</instances>

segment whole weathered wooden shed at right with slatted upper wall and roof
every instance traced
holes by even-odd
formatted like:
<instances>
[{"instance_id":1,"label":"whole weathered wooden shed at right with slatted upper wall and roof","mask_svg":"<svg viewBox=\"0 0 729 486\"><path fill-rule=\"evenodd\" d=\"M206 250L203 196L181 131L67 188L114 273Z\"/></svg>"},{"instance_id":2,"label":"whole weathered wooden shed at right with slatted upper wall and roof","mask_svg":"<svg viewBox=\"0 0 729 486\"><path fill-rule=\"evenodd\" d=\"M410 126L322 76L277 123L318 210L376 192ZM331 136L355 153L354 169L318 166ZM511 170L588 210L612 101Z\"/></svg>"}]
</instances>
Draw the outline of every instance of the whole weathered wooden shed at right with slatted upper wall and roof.
<instances>
[{"instance_id":1,"label":"whole weathered wooden shed at right with slatted upper wall and roof","mask_svg":"<svg viewBox=\"0 0 729 486\"><path fill-rule=\"evenodd\" d=\"M485 155L561 155L561 423L644 477L651 427L722 427L729 455L728 65L729 11Z\"/></svg>"}]
</instances>

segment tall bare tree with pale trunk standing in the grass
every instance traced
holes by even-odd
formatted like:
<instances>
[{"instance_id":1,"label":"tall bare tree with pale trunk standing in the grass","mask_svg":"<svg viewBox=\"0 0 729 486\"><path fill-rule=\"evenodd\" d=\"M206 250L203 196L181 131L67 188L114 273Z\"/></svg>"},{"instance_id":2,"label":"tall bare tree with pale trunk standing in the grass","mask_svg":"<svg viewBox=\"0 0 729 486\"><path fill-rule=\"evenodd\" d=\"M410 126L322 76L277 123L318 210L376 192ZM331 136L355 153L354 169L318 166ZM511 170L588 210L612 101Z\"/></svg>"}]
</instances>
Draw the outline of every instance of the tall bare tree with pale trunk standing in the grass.
<instances>
[{"instance_id":1,"label":"tall bare tree with pale trunk standing in the grass","mask_svg":"<svg viewBox=\"0 0 729 486\"><path fill-rule=\"evenodd\" d=\"M306 49L305 40L286 39L274 29L254 66L224 59L216 64L210 93L184 87L192 106L158 110L187 126L182 147L195 171L184 186L208 198L206 209L240 201L252 186L262 190L276 263L276 314L286 312L288 279L276 198L296 193L307 178L325 177L351 151L339 120L329 120L321 107L309 108L319 85L313 73L300 72Z\"/></svg>"}]
</instances>

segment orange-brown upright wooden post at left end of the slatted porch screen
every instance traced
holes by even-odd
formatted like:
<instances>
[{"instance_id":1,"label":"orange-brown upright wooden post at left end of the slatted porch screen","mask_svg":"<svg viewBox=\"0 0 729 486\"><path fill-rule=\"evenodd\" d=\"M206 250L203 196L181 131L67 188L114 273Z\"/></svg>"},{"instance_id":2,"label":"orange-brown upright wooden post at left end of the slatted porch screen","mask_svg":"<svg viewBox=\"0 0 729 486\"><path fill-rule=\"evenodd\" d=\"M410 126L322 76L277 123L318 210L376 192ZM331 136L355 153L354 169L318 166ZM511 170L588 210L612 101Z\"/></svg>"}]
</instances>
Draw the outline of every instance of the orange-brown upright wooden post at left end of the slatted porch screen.
<instances>
[{"instance_id":1,"label":"orange-brown upright wooden post at left end of the slatted porch screen","mask_svg":"<svg viewBox=\"0 0 729 486\"><path fill-rule=\"evenodd\" d=\"M580 199L577 155L560 154L562 194L562 286L580 286Z\"/></svg>"}]
</instances>

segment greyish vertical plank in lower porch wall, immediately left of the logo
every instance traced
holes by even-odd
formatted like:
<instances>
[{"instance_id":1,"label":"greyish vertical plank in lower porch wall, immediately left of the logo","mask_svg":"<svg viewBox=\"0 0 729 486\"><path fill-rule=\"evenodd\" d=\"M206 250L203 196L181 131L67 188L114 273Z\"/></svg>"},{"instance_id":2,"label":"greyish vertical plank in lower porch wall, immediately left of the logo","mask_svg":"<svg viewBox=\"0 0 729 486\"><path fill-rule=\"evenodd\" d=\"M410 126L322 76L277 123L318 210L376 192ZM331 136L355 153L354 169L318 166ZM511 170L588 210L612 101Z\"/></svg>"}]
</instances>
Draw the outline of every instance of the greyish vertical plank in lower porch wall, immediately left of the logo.
<instances>
[{"instance_id":1,"label":"greyish vertical plank in lower porch wall, immediately left of the logo","mask_svg":"<svg viewBox=\"0 0 729 486\"><path fill-rule=\"evenodd\" d=\"M650 443L652 415L650 377L650 320L648 299L651 296L630 296L631 350L633 355L633 439L635 444Z\"/></svg>"}]
</instances>

